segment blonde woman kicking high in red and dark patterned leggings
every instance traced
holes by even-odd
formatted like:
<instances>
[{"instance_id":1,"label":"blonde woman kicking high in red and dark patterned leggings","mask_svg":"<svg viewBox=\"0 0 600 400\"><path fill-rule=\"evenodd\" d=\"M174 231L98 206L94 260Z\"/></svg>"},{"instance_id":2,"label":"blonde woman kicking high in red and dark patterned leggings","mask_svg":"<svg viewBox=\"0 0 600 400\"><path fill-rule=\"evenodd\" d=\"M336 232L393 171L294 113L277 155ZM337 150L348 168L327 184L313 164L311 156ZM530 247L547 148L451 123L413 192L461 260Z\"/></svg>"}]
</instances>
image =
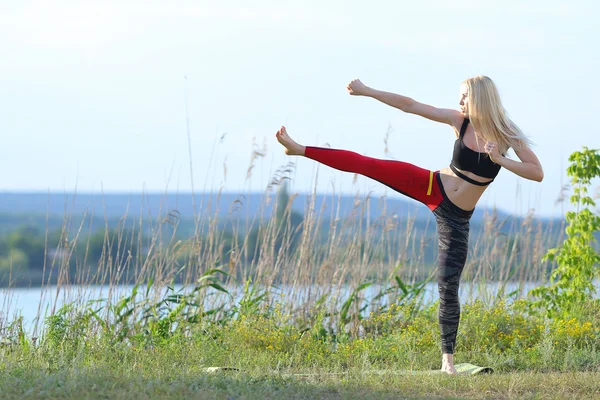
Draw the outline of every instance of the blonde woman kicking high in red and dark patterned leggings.
<instances>
[{"instance_id":1,"label":"blonde woman kicking high in red and dark patterned leggings","mask_svg":"<svg viewBox=\"0 0 600 400\"><path fill-rule=\"evenodd\" d=\"M285 127L281 127L276 136L288 155L305 156L341 171L375 179L432 210L438 232L442 371L455 374L453 354L460 319L458 285L467 259L473 210L500 168L537 182L542 181L544 172L530 148L530 141L507 117L494 82L486 76L476 76L461 84L460 111L435 108L409 97L375 90L360 80L350 82L348 92L372 97L454 128L456 142L452 162L439 171L345 150L302 146L289 137ZM505 156L509 148L520 161Z\"/></svg>"}]
</instances>

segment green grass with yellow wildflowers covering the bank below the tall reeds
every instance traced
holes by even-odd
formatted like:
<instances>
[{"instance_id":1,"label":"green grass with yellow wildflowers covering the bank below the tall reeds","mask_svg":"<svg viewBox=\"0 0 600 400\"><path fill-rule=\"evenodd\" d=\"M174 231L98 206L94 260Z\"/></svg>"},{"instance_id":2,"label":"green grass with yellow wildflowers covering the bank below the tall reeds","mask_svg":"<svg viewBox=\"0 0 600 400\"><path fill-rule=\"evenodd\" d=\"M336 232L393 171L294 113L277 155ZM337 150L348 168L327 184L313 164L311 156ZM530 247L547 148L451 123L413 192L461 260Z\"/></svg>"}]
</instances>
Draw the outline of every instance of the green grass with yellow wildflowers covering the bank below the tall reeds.
<instances>
[{"instance_id":1,"label":"green grass with yellow wildflowers covering the bank below the tall reeds","mask_svg":"<svg viewBox=\"0 0 600 400\"><path fill-rule=\"evenodd\" d=\"M168 329L142 319L125 335L116 320L65 307L33 340L12 327L0 346L3 398L597 398L598 303L577 317L545 320L523 304L464 308L456 362L491 375L439 369L436 305L392 308L360 323L359 334L310 329L278 307ZM318 315L318 313L317 313ZM163 319L164 320L164 319ZM160 320L159 320L160 321ZM160 324L158 324L160 325ZM164 328L164 325L162 325ZM208 372L209 367L235 370Z\"/></svg>"}]
</instances>

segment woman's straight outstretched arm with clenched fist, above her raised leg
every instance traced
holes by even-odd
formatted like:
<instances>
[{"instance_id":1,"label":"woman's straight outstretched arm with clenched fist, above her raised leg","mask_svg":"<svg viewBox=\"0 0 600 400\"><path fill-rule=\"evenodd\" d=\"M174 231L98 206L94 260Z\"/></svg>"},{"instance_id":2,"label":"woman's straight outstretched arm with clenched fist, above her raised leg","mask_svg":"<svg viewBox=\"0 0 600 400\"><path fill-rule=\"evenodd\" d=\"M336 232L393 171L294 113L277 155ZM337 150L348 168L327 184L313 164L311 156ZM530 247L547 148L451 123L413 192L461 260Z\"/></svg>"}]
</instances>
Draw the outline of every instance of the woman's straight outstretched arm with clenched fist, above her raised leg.
<instances>
[{"instance_id":1,"label":"woman's straight outstretched arm with clenched fist, above her raised leg","mask_svg":"<svg viewBox=\"0 0 600 400\"><path fill-rule=\"evenodd\" d=\"M348 92L354 96L372 97L384 104L395 107L404 112L420 115L432 121L442 122L453 126L460 127L464 119L462 113L457 110L436 108L427 104L419 103L410 97L376 90L366 86L359 79L355 79L348 84Z\"/></svg>"}]
</instances>

